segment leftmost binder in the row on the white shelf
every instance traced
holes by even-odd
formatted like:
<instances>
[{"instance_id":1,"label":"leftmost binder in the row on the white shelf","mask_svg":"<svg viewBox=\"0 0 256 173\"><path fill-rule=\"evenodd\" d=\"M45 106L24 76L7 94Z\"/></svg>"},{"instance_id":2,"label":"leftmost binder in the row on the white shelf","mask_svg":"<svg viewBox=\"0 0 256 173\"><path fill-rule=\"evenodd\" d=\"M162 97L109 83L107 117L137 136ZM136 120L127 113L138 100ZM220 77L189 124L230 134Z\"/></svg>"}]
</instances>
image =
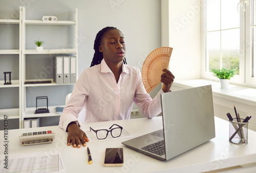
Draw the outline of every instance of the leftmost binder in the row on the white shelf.
<instances>
[{"instance_id":1,"label":"leftmost binder in the row on the white shelf","mask_svg":"<svg viewBox=\"0 0 256 173\"><path fill-rule=\"evenodd\" d=\"M63 57L53 57L53 81L56 84L63 83Z\"/></svg>"}]
</instances>

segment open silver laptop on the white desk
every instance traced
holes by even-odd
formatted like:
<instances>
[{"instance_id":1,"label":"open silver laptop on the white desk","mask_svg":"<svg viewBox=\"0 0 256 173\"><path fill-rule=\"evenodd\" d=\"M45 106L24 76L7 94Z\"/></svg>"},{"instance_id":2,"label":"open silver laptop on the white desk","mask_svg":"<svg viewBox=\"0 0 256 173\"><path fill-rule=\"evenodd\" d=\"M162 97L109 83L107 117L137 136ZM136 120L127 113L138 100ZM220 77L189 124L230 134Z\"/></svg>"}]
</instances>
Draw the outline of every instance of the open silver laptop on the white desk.
<instances>
[{"instance_id":1,"label":"open silver laptop on the white desk","mask_svg":"<svg viewBox=\"0 0 256 173\"><path fill-rule=\"evenodd\" d=\"M161 94L163 129L122 144L169 160L215 138L211 85Z\"/></svg>"}]
</instances>

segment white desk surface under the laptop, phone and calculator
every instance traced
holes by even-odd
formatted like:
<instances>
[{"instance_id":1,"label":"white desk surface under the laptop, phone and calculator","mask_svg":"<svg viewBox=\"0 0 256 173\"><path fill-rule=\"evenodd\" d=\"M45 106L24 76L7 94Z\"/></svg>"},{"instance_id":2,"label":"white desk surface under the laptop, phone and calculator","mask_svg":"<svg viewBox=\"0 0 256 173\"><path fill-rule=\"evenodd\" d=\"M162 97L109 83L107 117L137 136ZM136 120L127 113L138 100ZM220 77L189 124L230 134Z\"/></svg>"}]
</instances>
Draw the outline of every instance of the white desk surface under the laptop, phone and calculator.
<instances>
[{"instance_id":1,"label":"white desk surface under the laptop, phone and calculator","mask_svg":"<svg viewBox=\"0 0 256 173\"><path fill-rule=\"evenodd\" d=\"M88 123L84 126L94 128L110 127L113 123L117 123L134 137L137 137L161 129L162 117L105 121ZM256 162L256 132L248 130L248 144L236 145L228 142L229 122L215 117L215 123L216 138L169 161L159 161L121 144L122 141L129 138L116 138L112 141L88 142L87 146L90 148L93 159L93 164L89 165L87 147L81 146L78 149L67 146L67 133L58 126L10 130L8 135L9 154L45 151L54 153L58 150L61 152L67 172L204 172ZM42 130L52 130L56 133L53 143L30 146L20 145L18 140L20 134ZM3 138L4 132L0 131L1 150L4 150ZM106 147L124 148L125 164L123 167L103 166L103 155ZM179 147L179 144L177 144L177 147ZM4 151L1 151L1 154L3 153ZM3 158L0 159L2 160ZM256 166L239 168L235 172L242 172L241 169L243 169L243 172L256 172Z\"/></svg>"}]
</instances>

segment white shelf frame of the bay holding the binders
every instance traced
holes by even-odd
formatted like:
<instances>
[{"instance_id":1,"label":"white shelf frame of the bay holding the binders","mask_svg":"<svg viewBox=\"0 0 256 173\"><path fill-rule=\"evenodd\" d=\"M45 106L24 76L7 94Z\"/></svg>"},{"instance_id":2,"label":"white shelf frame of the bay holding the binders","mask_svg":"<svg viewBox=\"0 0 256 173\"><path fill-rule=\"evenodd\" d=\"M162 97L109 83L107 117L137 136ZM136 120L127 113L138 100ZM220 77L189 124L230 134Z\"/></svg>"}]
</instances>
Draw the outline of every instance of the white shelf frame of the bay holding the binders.
<instances>
[{"instance_id":1,"label":"white shelf frame of the bay holding the binders","mask_svg":"<svg viewBox=\"0 0 256 173\"><path fill-rule=\"evenodd\" d=\"M41 113L41 114L34 114L36 108L35 107L27 107L26 105L26 88L27 87L44 87L44 86L63 86L63 85L73 85L73 84L56 84L53 82L53 79L51 80L51 83L47 84L24 84L28 81L38 81L38 80L27 80L26 79L26 55L60 55L60 54L74 54L76 57L76 73L78 74L78 39L77 39L77 9L75 9L75 17L74 21L68 21L68 20L58 20L56 22L47 22L42 20L27 20L26 19L26 9L25 7L22 7L22 127L23 127L23 121L24 118L37 118L37 117L51 117L51 116L59 116L59 114L56 113L55 109L56 107L63 107L64 105L57 105L57 106L49 106L48 109L50 113ZM28 25L61 25L61 26L67 26L67 25L73 25L74 26L74 49L50 49L50 50L43 50L42 52L36 52L35 50L27 50L26 49L26 26ZM28 33L27 33L28 34ZM76 80L77 80L76 76ZM44 81L42 79L41 81ZM48 79L49 81L49 79Z\"/></svg>"}]
</instances>

